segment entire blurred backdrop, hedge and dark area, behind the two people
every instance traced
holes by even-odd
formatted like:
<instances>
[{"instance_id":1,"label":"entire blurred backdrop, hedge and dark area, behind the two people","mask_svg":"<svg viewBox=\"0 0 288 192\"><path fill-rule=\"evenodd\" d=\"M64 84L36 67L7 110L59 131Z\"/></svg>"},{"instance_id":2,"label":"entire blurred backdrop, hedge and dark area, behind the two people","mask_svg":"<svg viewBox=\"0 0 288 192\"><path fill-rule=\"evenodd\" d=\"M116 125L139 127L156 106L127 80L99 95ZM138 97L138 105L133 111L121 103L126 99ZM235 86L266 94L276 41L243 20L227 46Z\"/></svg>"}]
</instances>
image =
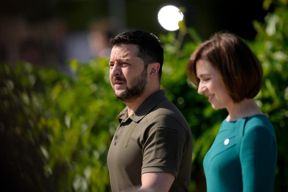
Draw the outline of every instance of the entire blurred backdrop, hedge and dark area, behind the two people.
<instances>
[{"instance_id":1,"label":"entire blurred backdrop, hedge and dark area, behind the two people","mask_svg":"<svg viewBox=\"0 0 288 192\"><path fill-rule=\"evenodd\" d=\"M179 30L161 7L184 14ZM226 110L214 111L187 79L189 56L213 33L242 37L264 81L256 102L274 125L274 191L288 191L287 0L43 0L0 2L0 172L9 191L110 191L107 152L124 104L109 82L108 39L140 29L164 45L161 87L190 125L190 191L206 191L202 161Z\"/></svg>"}]
</instances>

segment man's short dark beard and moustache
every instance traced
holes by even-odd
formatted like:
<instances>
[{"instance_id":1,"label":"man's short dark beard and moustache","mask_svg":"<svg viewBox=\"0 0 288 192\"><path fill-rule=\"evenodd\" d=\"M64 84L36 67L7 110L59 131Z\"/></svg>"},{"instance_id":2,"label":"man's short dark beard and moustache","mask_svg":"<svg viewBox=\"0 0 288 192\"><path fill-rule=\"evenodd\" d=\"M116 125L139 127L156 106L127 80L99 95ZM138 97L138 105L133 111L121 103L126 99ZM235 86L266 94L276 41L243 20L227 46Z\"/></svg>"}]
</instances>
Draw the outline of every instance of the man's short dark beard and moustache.
<instances>
[{"instance_id":1,"label":"man's short dark beard and moustache","mask_svg":"<svg viewBox=\"0 0 288 192\"><path fill-rule=\"evenodd\" d=\"M114 96L118 99L121 99L123 102L133 102L141 95L143 95L146 84L147 84L147 68L144 68L142 73L139 76L135 76L131 78L131 86L128 88L127 82L125 78L114 77L112 82L116 80L124 81L126 83L125 90L121 93L121 95L117 96L115 94L115 89L113 89Z\"/></svg>"}]
</instances>

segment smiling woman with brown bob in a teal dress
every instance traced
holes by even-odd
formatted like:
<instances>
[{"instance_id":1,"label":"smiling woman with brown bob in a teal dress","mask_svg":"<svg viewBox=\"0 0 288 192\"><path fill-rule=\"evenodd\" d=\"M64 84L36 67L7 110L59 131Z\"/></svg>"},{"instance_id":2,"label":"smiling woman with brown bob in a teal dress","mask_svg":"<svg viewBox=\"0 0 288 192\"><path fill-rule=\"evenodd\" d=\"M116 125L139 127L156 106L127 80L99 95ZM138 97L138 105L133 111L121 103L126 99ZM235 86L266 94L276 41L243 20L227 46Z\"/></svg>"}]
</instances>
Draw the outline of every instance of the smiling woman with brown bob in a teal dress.
<instances>
[{"instance_id":1,"label":"smiling woman with brown bob in a teal dress","mask_svg":"<svg viewBox=\"0 0 288 192\"><path fill-rule=\"evenodd\" d=\"M273 191L277 144L273 125L254 101L262 67L244 41L221 33L202 43L187 76L228 116L204 158L207 191Z\"/></svg>"}]
</instances>

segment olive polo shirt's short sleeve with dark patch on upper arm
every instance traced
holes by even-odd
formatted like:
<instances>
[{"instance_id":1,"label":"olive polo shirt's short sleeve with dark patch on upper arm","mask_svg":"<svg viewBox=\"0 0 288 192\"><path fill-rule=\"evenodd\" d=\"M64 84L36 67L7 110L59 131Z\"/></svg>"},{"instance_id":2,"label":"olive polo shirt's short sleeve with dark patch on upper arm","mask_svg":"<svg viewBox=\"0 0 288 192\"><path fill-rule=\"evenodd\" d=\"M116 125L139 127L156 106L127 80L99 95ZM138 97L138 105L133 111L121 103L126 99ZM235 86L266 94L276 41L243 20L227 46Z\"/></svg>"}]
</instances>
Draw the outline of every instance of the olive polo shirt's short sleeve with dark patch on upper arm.
<instances>
[{"instance_id":1,"label":"olive polo shirt's short sleeve with dark patch on upper arm","mask_svg":"<svg viewBox=\"0 0 288 192\"><path fill-rule=\"evenodd\" d=\"M149 123L143 135L142 173L165 172L175 177L186 149L182 125L169 115L160 115Z\"/></svg>"}]
</instances>

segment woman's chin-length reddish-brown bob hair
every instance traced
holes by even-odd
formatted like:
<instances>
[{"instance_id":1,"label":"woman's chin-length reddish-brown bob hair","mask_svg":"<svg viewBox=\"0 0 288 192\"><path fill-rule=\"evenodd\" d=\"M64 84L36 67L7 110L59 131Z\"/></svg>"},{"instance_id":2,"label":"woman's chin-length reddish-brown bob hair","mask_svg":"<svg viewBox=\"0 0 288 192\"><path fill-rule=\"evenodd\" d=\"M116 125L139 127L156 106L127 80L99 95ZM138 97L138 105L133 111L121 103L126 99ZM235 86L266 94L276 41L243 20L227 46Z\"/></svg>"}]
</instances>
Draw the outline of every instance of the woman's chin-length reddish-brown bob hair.
<instances>
[{"instance_id":1,"label":"woman's chin-length reddish-brown bob hair","mask_svg":"<svg viewBox=\"0 0 288 192\"><path fill-rule=\"evenodd\" d=\"M235 103L254 98L261 89L263 71L249 46L237 35L218 33L202 43L191 55L186 73L198 87L196 62L209 61L218 70L221 80Z\"/></svg>"}]
</instances>

